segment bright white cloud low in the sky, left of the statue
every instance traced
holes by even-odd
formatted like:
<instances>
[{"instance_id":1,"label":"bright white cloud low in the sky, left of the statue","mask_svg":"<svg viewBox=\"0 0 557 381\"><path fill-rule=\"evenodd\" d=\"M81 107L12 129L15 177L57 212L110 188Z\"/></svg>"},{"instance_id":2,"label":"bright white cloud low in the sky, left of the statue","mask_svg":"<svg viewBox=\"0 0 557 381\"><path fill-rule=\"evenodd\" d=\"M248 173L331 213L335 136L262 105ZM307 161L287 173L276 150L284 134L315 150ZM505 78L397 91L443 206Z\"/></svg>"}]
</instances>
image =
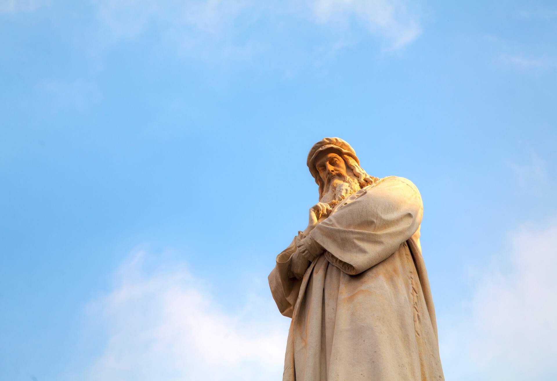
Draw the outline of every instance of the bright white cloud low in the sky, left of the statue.
<instances>
[{"instance_id":1,"label":"bright white cloud low in the sky, left of the statue","mask_svg":"<svg viewBox=\"0 0 557 381\"><path fill-rule=\"evenodd\" d=\"M144 272L144 254L123 264L109 295L91 303L108 339L89 380L276 380L289 319L272 298L225 310L183 267Z\"/></svg>"}]
</instances>

